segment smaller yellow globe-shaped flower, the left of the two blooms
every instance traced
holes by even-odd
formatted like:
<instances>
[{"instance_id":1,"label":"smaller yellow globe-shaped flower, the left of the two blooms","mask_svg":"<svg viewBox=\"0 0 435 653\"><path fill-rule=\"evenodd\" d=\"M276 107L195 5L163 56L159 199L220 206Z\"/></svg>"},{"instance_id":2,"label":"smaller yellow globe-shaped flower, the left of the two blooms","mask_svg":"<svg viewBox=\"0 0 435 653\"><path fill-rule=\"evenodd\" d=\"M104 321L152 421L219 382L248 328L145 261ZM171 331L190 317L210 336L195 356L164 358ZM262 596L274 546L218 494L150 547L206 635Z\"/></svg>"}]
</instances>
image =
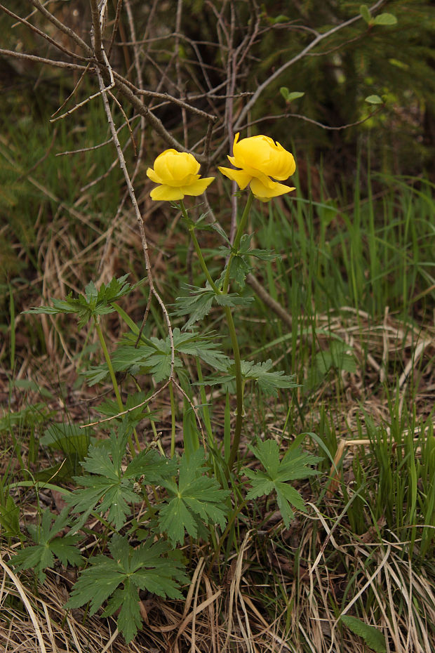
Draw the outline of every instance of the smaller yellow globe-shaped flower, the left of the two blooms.
<instances>
[{"instance_id":1,"label":"smaller yellow globe-shaped flower, the left of the two blooms","mask_svg":"<svg viewBox=\"0 0 435 653\"><path fill-rule=\"evenodd\" d=\"M159 184L151 191L151 199L175 200L185 195L201 195L214 177L198 174L199 163L193 154L165 150L154 161L154 169L147 169L147 176Z\"/></svg>"}]
</instances>

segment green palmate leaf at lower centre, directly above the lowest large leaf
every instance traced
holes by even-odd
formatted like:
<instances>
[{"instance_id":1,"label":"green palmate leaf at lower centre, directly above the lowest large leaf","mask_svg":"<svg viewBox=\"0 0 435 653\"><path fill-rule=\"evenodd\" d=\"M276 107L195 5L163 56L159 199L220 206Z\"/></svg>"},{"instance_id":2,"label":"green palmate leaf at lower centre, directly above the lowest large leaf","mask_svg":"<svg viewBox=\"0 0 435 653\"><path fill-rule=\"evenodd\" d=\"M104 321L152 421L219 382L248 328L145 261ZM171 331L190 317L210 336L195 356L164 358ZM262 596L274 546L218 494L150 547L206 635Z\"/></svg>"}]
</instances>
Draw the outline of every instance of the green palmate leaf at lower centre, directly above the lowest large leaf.
<instances>
[{"instance_id":1,"label":"green palmate leaf at lower centre, directly above the lowest large leaf","mask_svg":"<svg viewBox=\"0 0 435 653\"><path fill-rule=\"evenodd\" d=\"M225 527L227 506L224 501L229 492L221 489L214 477L208 477L204 470L203 449L197 449L189 457L182 455L178 484L163 482L169 494L168 503L160 509L161 531L168 535L170 542L182 543L185 531L192 537L198 533L198 520L205 524L218 524Z\"/></svg>"}]
</instances>

